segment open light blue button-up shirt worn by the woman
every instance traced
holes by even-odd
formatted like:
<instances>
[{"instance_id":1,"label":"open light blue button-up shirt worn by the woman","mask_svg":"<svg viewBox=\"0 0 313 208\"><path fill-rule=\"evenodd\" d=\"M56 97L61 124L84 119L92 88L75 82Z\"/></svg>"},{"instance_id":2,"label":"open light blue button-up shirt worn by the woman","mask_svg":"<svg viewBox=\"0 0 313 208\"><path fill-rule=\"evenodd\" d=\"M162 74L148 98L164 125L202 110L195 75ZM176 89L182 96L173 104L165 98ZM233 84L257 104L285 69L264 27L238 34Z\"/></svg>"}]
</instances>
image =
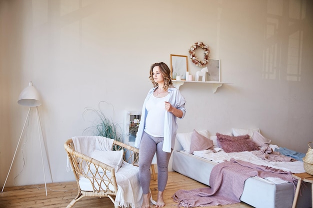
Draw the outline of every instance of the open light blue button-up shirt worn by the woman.
<instances>
[{"instance_id":1,"label":"open light blue button-up shirt worn by the woman","mask_svg":"<svg viewBox=\"0 0 313 208\"><path fill-rule=\"evenodd\" d=\"M145 109L146 101L150 98L150 96L153 94L156 87L149 90L146 98L144 99L142 111L141 111L141 118L140 123L137 131L137 136L135 140L134 146L136 148L139 148L141 137L143 134L143 129L145 126L145 119L147 115L147 110ZM184 107L186 101L184 97L180 94L179 90L177 90L175 87L170 87L167 89L169 96L167 102L169 102L173 107L179 109L182 111L182 116L180 119L182 119L186 114L186 109ZM176 123L176 116L174 116L172 113L165 111L165 117L164 117L164 141L163 141L163 148L162 150L164 152L171 152L171 149L174 148L175 143L175 137L176 137L176 131L177 131L178 125Z\"/></svg>"}]
</instances>

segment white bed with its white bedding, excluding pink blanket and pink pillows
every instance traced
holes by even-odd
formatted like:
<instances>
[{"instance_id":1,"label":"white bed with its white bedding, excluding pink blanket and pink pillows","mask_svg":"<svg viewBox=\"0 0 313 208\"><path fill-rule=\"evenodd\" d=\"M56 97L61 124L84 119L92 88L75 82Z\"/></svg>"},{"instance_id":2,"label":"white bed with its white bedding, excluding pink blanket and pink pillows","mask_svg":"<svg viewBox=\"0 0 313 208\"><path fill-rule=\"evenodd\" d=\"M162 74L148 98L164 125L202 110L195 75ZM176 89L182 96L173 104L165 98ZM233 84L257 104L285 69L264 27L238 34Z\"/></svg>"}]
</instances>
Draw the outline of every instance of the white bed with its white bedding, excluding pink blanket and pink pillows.
<instances>
[{"instance_id":1,"label":"white bed with its white bedding, excluding pink blanket and pink pillows","mask_svg":"<svg viewBox=\"0 0 313 208\"><path fill-rule=\"evenodd\" d=\"M232 129L231 133L225 135L238 136L247 134L249 137L251 137L255 131L259 133L259 129ZM256 157L252 153L257 151L244 151L236 153L225 153L223 150L219 150L217 152L215 151L216 153L214 153L214 151L210 152L210 150L194 151L195 147L192 145L193 143L197 144L195 146L202 146L202 149L203 146L205 146L205 144L202 144L199 141L196 142L196 140L194 140L194 132L195 130L189 133L177 134L174 151L172 153L172 169L175 172L178 172L207 186L210 186L209 176L212 168L218 163L223 162L223 160L228 161L230 158L236 158L238 160L243 159L250 162L248 160L249 158L255 159ZM216 141L216 136L209 136L208 131L205 130L197 131L196 133L202 135L206 139L209 138L211 141L213 141L214 149L220 149ZM258 135L260 135L260 133ZM270 140L267 141L267 143L270 143ZM275 146L271 145L270 147L274 148ZM193 151L191 150L192 154L190 154L190 148L193 149ZM290 171L291 173L305 172L302 161L269 162L262 159L260 159L260 161L260 165L268 164L268 166L280 170L292 170ZM252 163L256 164L255 161ZM306 186L302 187L304 189L301 190L301 196L298 198L297 208L310 208L311 186L306 184ZM244 188L240 197L240 201L255 208L291 208L294 197L294 188L294 184L280 181L278 179L262 179L259 177L251 177L244 182Z\"/></svg>"}]
</instances>

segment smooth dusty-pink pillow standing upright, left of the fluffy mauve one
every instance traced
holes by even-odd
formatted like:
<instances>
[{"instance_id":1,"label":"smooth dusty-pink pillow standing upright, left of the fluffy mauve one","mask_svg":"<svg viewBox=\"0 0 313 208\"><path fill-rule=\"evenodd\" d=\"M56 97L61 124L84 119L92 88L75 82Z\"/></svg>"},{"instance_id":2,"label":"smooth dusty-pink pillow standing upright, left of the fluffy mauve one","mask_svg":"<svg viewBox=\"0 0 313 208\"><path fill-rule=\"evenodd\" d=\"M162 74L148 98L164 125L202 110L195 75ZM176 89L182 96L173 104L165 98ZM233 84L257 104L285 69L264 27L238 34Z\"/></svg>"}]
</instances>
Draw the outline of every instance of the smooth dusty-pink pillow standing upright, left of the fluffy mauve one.
<instances>
[{"instance_id":1,"label":"smooth dusty-pink pillow standing upright, left of the fluffy mauve one","mask_svg":"<svg viewBox=\"0 0 313 208\"><path fill-rule=\"evenodd\" d=\"M190 154L194 151L199 150L208 150L213 147L213 141L209 138L206 138L199 133L197 133L194 129L191 135L191 144L190 144Z\"/></svg>"}]
</instances>

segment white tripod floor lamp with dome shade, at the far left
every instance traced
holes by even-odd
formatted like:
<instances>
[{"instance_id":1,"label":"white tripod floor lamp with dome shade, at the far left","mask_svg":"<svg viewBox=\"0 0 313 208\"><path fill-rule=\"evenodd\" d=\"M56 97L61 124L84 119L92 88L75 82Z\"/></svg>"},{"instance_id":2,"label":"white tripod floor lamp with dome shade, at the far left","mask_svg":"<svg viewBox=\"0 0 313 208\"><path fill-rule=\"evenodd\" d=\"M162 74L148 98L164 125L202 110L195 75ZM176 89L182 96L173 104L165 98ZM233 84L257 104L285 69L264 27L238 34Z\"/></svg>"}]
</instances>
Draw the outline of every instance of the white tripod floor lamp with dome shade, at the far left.
<instances>
[{"instance_id":1,"label":"white tripod floor lamp with dome shade, at the far left","mask_svg":"<svg viewBox=\"0 0 313 208\"><path fill-rule=\"evenodd\" d=\"M11 162L10 169L8 170L8 173L7 173L7 176L6 176L6 179L5 179L5 182L4 182L4 185L3 185L3 188L2 188L1 192L3 192L6 180L8 178L8 175L10 174L10 171L11 171L11 168L12 168L12 165L13 165L13 162L14 162L14 158L15 158L15 155L16 155L16 152L17 152L17 149L18 149L18 145L19 145L20 139L21 139L22 134L24 132L26 122L27 122L27 120L29 118L30 110L31 110L32 107L35 107L36 108L36 114L37 114L37 125L38 125L38 133L39 133L39 143L40 143L41 161L42 161L42 168L43 168L45 195L47 196L46 182L45 182L45 173L44 173L44 164L43 164L43 157L42 157L42 147L41 147L42 128L41 128L40 117L39 117L39 113L38 113L38 106L41 105L41 102L40 102L39 93L36 90L36 88L33 87L32 82L29 82L28 87L23 89L23 91L20 93L20 95L18 97L17 103L20 104L20 105L23 105L23 106L28 106L29 109L28 109L28 113L27 113L27 117L25 119L25 123L24 123L23 129L22 129L22 131L20 133L20 136L19 136L19 140L18 140L16 149L15 149L15 153L14 153L14 156L13 156L13 159L12 159L12 162Z\"/></svg>"}]
</instances>

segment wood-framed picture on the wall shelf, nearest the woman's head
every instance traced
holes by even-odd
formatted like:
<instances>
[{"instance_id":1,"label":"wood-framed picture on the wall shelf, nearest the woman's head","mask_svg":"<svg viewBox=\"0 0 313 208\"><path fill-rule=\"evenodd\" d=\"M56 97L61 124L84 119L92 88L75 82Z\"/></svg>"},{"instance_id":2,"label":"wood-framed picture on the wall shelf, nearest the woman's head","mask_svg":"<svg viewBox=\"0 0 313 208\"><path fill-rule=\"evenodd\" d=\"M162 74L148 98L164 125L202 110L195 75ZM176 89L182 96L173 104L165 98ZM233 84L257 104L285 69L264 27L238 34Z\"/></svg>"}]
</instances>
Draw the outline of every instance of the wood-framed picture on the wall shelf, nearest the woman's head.
<instances>
[{"instance_id":1,"label":"wood-framed picture on the wall shelf, nearest the woman's head","mask_svg":"<svg viewBox=\"0 0 313 208\"><path fill-rule=\"evenodd\" d=\"M186 55L170 54L170 75L172 79L176 80L179 76L180 80L186 80L186 71L188 71L187 58Z\"/></svg>"}]
</instances>

